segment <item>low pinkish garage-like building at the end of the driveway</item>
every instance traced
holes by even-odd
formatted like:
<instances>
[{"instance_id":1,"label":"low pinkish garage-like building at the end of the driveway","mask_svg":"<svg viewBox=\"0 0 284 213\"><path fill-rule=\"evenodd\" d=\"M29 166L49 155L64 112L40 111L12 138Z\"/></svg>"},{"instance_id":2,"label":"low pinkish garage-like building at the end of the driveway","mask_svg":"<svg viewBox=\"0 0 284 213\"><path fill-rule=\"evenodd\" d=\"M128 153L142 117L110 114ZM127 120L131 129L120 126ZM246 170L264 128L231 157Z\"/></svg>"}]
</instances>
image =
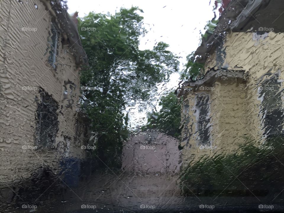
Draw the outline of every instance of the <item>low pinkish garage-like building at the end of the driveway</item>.
<instances>
[{"instance_id":1,"label":"low pinkish garage-like building at the end of the driveway","mask_svg":"<svg viewBox=\"0 0 284 213\"><path fill-rule=\"evenodd\" d=\"M122 170L141 175L180 172L178 140L158 130L135 133L123 143Z\"/></svg>"}]
</instances>

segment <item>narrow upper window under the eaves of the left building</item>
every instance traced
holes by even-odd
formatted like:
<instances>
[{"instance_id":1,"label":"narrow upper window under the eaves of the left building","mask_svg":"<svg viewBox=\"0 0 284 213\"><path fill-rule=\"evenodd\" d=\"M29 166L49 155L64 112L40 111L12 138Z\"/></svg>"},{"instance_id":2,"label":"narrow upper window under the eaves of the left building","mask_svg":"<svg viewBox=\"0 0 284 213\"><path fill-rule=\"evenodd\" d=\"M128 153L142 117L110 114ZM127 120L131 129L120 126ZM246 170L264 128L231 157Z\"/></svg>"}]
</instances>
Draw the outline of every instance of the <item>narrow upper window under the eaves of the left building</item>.
<instances>
[{"instance_id":1,"label":"narrow upper window under the eaves of the left building","mask_svg":"<svg viewBox=\"0 0 284 213\"><path fill-rule=\"evenodd\" d=\"M56 54L57 54L57 41L58 41L58 31L54 23L51 23L51 35L48 38L49 48L49 58L48 63L56 69Z\"/></svg>"}]
</instances>

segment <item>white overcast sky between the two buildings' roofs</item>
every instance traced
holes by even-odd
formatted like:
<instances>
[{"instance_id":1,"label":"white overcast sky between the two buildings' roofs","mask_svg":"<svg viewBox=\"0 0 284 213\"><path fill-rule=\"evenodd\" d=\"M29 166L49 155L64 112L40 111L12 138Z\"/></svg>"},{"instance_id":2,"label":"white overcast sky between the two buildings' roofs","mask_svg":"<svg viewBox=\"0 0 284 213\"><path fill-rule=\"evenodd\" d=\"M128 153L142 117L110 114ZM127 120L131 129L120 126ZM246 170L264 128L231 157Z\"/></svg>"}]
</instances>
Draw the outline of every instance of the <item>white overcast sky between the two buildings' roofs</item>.
<instances>
[{"instance_id":1,"label":"white overcast sky between the two buildings' roofs","mask_svg":"<svg viewBox=\"0 0 284 213\"><path fill-rule=\"evenodd\" d=\"M139 7L144 12L141 14L144 17L144 27L149 31L141 38L139 49L152 49L156 42L166 42L170 45L169 51L182 57L180 70L183 69L186 56L199 46L200 30L204 33L207 21L214 17L214 0L209 3L210 0L67 0L68 12L72 14L78 11L79 17L84 17L91 11L115 14L121 7ZM130 128L146 124L147 112L151 112L153 106L159 111L161 94L177 88L179 81L179 74L173 73L168 83L157 85L158 91L151 103L143 104L133 100L135 106L126 107Z\"/></svg>"}]
</instances>

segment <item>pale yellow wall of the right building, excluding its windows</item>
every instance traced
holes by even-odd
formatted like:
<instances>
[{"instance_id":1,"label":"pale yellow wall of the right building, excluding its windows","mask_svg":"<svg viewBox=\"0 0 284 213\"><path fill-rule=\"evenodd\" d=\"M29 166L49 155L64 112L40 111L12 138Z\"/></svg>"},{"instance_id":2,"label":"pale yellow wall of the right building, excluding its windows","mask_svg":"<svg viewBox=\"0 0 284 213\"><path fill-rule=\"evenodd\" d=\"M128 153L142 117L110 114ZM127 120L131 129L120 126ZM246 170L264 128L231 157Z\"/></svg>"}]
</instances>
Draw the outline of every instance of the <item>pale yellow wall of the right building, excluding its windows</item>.
<instances>
[{"instance_id":1,"label":"pale yellow wall of the right building, excluding its windows","mask_svg":"<svg viewBox=\"0 0 284 213\"><path fill-rule=\"evenodd\" d=\"M265 80L279 75L280 88L277 92L283 100L283 36L283 33L274 32L262 36L256 33L228 34L222 48L223 52L214 53L207 59L206 71L211 69L209 72L214 73L218 72L214 70L225 68L227 70L225 72L233 76L236 72L244 71L243 77L228 78L219 73L204 83L185 86L184 89L188 91L182 109L183 120L187 121L181 143L184 146L182 158L185 164L183 166L205 156L238 153L239 148L248 142L253 143L254 146L265 143L263 121L265 115L261 110L260 88L263 87ZM220 56L223 58L221 63ZM202 90L200 89L202 86L213 89ZM210 100L211 144L209 146L212 147L209 149L200 149L199 133L196 132L197 95L207 95Z\"/></svg>"}]
</instances>

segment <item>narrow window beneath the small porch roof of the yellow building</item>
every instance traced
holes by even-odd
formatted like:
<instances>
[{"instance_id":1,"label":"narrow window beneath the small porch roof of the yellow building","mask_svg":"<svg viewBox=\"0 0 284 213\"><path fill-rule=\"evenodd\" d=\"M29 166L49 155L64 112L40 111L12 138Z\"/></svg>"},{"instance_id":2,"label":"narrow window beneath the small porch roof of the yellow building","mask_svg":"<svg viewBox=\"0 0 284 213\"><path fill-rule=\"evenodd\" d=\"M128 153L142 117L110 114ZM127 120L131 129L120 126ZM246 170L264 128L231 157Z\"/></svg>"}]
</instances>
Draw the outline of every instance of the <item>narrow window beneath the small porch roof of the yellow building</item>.
<instances>
[{"instance_id":1,"label":"narrow window beneath the small porch roof of the yellow building","mask_svg":"<svg viewBox=\"0 0 284 213\"><path fill-rule=\"evenodd\" d=\"M197 128L199 142L201 145L210 145L210 117L209 117L209 95L196 96Z\"/></svg>"}]
</instances>

